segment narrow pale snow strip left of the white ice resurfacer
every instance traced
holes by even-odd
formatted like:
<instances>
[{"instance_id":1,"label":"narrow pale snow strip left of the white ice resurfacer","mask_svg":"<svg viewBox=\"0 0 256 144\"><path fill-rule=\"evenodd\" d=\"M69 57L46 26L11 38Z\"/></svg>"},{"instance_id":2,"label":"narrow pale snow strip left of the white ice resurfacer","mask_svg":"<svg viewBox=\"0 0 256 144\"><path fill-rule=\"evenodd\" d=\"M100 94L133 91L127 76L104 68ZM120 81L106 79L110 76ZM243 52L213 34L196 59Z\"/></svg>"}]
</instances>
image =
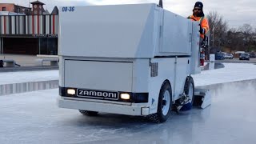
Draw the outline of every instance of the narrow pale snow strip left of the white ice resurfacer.
<instances>
[{"instance_id":1,"label":"narrow pale snow strip left of the white ice resurfacer","mask_svg":"<svg viewBox=\"0 0 256 144\"><path fill-rule=\"evenodd\" d=\"M22 82L40 82L58 79L58 70L17 71L0 73L0 85Z\"/></svg>"}]
</instances>

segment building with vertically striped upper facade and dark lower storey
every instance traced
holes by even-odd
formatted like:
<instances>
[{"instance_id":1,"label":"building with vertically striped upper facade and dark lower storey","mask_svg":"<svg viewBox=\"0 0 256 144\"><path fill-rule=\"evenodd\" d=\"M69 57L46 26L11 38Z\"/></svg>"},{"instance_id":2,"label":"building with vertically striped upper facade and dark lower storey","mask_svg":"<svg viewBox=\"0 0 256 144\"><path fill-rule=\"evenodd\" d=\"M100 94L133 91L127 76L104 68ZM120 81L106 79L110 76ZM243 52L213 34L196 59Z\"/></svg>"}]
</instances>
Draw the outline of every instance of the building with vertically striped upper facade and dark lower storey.
<instances>
[{"instance_id":1,"label":"building with vertically striped upper facade and dark lower storey","mask_svg":"<svg viewBox=\"0 0 256 144\"><path fill-rule=\"evenodd\" d=\"M0 15L0 54L58 54L58 14L44 14L42 2L31 4L30 14Z\"/></svg>"}]
</instances>

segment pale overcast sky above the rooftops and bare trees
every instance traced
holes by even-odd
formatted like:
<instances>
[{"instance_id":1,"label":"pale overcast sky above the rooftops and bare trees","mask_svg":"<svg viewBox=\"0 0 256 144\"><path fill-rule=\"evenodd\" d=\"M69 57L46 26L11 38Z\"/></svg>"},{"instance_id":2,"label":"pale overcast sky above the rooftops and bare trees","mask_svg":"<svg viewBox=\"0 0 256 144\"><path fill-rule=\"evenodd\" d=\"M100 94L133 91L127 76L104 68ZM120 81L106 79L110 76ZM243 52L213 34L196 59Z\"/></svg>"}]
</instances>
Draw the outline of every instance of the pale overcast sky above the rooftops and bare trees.
<instances>
[{"instance_id":1,"label":"pale overcast sky above the rooftops and bare trees","mask_svg":"<svg viewBox=\"0 0 256 144\"><path fill-rule=\"evenodd\" d=\"M0 3L15 3L29 6L34 0L0 0ZM54 6L90 6L90 5L116 5L131 3L158 3L158 0L40 0L46 5L45 9L51 12ZM163 0L163 6L175 14L187 17L192 13L196 0ZM230 28L238 28L247 23L256 28L256 0L202 0L204 13L217 11L228 22Z\"/></svg>"}]
</instances>

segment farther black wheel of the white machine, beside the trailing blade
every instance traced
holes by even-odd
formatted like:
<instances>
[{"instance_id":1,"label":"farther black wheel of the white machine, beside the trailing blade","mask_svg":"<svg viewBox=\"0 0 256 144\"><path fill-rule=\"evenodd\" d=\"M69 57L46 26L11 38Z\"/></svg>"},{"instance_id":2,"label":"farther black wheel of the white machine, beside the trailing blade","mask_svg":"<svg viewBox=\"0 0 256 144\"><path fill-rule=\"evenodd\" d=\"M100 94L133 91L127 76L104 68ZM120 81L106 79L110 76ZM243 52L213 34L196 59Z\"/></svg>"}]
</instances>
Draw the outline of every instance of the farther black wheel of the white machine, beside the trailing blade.
<instances>
[{"instance_id":1,"label":"farther black wheel of the white machine, beside the trailing blade","mask_svg":"<svg viewBox=\"0 0 256 144\"><path fill-rule=\"evenodd\" d=\"M190 89L193 89L193 90L190 91ZM192 95L190 96L190 98L191 98L190 102L191 102L191 104L193 104L193 102L194 102L194 80L191 76L186 77L184 92L186 95L189 95L190 93L192 93Z\"/></svg>"}]
</instances>

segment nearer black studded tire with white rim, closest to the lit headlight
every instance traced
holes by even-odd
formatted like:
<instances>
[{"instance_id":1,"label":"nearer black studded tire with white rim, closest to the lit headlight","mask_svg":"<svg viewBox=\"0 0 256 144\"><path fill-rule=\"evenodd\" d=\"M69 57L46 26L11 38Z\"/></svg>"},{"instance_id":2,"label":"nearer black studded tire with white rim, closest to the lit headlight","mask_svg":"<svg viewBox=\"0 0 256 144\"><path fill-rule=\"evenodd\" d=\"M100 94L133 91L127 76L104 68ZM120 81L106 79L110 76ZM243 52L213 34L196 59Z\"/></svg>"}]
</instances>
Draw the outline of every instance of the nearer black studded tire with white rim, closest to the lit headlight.
<instances>
[{"instance_id":1,"label":"nearer black studded tire with white rim, closest to the lit headlight","mask_svg":"<svg viewBox=\"0 0 256 144\"><path fill-rule=\"evenodd\" d=\"M167 100L163 100L163 99L167 99ZM169 102L169 110L168 110L168 106L166 106L168 105L168 102ZM150 121L156 122L156 123L166 122L166 120L170 116L171 106L172 106L172 90L170 87L170 83L165 81L161 86L161 90L158 97L158 112L155 114L150 114L148 118L150 119Z\"/></svg>"}]
</instances>

